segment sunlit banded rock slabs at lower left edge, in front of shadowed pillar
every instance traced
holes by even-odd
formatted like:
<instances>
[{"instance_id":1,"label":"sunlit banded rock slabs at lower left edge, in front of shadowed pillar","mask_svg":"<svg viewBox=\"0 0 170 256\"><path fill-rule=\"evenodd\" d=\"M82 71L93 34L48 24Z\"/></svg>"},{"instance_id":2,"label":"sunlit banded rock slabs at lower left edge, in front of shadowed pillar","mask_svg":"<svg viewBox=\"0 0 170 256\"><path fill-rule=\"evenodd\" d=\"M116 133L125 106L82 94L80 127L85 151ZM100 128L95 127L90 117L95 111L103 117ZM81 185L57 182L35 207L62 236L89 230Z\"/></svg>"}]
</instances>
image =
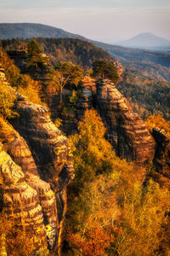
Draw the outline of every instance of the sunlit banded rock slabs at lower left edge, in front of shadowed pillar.
<instances>
[{"instance_id":1,"label":"sunlit banded rock slabs at lower left edge, in front of shadowed pillar","mask_svg":"<svg viewBox=\"0 0 170 256\"><path fill-rule=\"evenodd\" d=\"M0 129L3 131L0 134L3 145L3 151L0 152L1 209L8 218L16 220L26 234L31 233L36 247L45 248L48 245L46 227L43 224L38 190L34 189L38 177L31 152L25 140L2 119ZM29 185L30 177L34 178L34 186Z\"/></svg>"}]
</instances>

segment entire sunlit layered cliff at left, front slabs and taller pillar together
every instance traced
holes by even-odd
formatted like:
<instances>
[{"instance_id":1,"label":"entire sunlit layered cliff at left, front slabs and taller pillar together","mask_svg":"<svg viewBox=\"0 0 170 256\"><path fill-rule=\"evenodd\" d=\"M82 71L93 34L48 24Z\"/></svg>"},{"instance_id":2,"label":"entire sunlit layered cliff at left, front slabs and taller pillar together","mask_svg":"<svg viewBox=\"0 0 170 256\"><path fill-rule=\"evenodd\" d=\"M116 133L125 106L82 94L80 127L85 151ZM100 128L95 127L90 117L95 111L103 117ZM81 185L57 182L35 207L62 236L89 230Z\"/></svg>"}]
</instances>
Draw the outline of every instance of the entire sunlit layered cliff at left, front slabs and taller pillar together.
<instances>
[{"instance_id":1,"label":"entire sunlit layered cliff at left, front slabs and taller pillar together","mask_svg":"<svg viewBox=\"0 0 170 256\"><path fill-rule=\"evenodd\" d=\"M12 93L15 93L12 90ZM0 118L0 209L37 249L60 254L66 186L74 177L70 146L46 108L17 94L12 125Z\"/></svg>"}]
</instances>

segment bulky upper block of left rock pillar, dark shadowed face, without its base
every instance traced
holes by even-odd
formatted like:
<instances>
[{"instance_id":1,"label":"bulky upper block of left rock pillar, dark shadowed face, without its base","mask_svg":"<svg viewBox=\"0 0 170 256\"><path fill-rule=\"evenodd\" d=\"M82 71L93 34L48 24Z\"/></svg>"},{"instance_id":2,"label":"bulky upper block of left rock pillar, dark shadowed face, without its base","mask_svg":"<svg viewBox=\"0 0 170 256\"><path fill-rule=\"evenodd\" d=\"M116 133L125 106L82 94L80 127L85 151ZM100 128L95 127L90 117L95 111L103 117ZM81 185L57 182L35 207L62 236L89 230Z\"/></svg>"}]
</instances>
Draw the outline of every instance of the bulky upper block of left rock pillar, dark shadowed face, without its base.
<instances>
[{"instance_id":1,"label":"bulky upper block of left rock pillar, dark shadowed face, without its base","mask_svg":"<svg viewBox=\"0 0 170 256\"><path fill-rule=\"evenodd\" d=\"M58 176L66 166L71 165L67 138L55 127L46 108L21 101L16 109L19 117L14 120L14 128L31 148L39 175L47 182L53 181L60 189Z\"/></svg>"}]
</instances>

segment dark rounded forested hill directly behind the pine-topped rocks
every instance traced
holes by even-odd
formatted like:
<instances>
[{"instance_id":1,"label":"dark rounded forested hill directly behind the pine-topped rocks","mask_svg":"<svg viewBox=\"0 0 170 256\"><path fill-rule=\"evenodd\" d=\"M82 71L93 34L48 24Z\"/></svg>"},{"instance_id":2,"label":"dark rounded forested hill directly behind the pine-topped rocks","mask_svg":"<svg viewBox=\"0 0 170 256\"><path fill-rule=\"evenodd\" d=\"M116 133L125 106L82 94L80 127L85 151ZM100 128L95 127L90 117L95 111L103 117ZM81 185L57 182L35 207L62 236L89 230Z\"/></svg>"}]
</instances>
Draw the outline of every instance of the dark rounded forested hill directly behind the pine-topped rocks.
<instances>
[{"instance_id":1,"label":"dark rounded forested hill directly behind the pine-topped rocks","mask_svg":"<svg viewBox=\"0 0 170 256\"><path fill-rule=\"evenodd\" d=\"M114 58L104 49L80 39L36 38L36 40L53 64L59 61L71 61L81 67L92 67L92 63L96 59L114 61ZM2 45L8 51L18 49L19 46L25 48L27 42L29 42L28 39L2 40Z\"/></svg>"}]
</instances>

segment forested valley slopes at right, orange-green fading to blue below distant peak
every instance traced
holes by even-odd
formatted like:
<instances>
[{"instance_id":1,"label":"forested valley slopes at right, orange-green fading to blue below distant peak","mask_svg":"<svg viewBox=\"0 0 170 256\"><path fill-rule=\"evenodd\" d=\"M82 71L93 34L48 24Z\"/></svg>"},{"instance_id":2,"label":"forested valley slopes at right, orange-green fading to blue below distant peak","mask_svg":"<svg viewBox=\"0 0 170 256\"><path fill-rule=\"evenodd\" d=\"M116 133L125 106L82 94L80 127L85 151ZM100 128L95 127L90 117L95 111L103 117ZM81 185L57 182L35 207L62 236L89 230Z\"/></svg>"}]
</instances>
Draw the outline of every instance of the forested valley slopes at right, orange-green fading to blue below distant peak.
<instances>
[{"instance_id":1,"label":"forested valley slopes at right, orange-green fading to blue below distant peak","mask_svg":"<svg viewBox=\"0 0 170 256\"><path fill-rule=\"evenodd\" d=\"M102 43L96 43L103 48ZM143 117L151 113L170 119L170 53L105 44L104 49L125 67L118 89Z\"/></svg>"}]
</instances>

